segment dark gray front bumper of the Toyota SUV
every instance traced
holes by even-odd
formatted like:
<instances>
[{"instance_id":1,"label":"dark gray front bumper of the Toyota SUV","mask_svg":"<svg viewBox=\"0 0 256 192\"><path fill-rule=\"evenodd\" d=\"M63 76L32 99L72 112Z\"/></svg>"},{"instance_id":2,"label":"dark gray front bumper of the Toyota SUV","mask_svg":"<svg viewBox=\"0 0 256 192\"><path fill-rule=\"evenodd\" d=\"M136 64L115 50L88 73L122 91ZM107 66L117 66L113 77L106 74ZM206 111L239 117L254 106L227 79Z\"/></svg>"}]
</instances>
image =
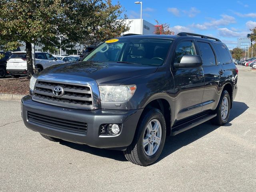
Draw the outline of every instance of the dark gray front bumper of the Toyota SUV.
<instances>
[{"instance_id":1,"label":"dark gray front bumper of the Toyota SUV","mask_svg":"<svg viewBox=\"0 0 256 192\"><path fill-rule=\"evenodd\" d=\"M97 148L118 148L124 150L132 143L136 126L143 109L139 110L81 110L43 104L24 96L21 103L22 118L27 128L62 140L86 144ZM62 118L63 120L86 122L87 134L76 134L59 130L54 126L42 126L28 120L28 112ZM100 136L100 125L122 124L120 134Z\"/></svg>"}]
</instances>

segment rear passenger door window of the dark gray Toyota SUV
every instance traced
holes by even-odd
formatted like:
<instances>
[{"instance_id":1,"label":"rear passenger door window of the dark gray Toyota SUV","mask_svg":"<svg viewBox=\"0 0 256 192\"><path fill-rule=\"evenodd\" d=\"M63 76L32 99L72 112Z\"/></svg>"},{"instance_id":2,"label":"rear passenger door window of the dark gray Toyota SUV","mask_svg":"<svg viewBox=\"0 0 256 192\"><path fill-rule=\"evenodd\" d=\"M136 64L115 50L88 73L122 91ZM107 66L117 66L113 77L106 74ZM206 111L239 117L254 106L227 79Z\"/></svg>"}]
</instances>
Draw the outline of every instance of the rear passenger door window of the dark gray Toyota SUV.
<instances>
[{"instance_id":1,"label":"rear passenger door window of the dark gray Toyota SUV","mask_svg":"<svg viewBox=\"0 0 256 192\"><path fill-rule=\"evenodd\" d=\"M203 66L216 65L215 56L210 44L204 42L197 42L197 44L202 57Z\"/></svg>"}]
</instances>

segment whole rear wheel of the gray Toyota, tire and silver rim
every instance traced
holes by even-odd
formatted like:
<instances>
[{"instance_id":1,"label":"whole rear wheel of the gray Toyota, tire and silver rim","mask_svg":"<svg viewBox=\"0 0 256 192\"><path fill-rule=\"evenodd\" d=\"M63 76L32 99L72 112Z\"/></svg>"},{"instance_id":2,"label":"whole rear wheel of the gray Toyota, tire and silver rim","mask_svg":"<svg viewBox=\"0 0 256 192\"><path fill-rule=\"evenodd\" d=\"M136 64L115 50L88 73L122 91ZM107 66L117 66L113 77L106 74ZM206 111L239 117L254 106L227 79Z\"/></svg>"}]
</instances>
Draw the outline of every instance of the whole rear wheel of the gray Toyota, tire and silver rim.
<instances>
[{"instance_id":1,"label":"whole rear wheel of the gray Toyota, tire and silver rim","mask_svg":"<svg viewBox=\"0 0 256 192\"><path fill-rule=\"evenodd\" d=\"M216 112L217 116L211 120L212 124L220 126L226 124L230 114L230 95L228 91L224 90L222 92Z\"/></svg>"}]
</instances>

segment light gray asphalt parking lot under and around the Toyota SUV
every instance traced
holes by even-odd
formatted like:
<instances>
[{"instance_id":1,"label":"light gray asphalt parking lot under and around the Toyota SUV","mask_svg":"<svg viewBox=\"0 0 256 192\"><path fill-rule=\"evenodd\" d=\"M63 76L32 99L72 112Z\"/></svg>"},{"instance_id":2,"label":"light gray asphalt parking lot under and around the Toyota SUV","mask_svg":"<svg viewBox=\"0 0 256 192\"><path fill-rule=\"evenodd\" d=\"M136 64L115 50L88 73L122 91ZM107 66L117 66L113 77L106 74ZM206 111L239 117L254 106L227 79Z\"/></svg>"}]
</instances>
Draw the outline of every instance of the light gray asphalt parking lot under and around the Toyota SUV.
<instances>
[{"instance_id":1,"label":"light gray asphalt parking lot under and around the Toyota SUV","mask_svg":"<svg viewBox=\"0 0 256 192\"><path fill-rule=\"evenodd\" d=\"M168 136L148 167L120 151L50 142L24 126L20 102L0 100L0 191L255 192L256 71L238 69L228 124Z\"/></svg>"}]
</instances>

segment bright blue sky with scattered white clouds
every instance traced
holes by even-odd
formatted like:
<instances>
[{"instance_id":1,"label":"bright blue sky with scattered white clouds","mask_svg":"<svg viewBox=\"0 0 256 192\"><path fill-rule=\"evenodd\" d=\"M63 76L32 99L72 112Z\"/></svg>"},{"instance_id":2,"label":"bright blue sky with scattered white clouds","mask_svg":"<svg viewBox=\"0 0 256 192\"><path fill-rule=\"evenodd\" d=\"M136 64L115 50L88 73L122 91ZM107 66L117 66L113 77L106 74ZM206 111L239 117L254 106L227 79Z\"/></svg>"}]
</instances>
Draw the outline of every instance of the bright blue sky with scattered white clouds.
<instances>
[{"instance_id":1,"label":"bright blue sky with scattered white clouds","mask_svg":"<svg viewBox=\"0 0 256 192\"><path fill-rule=\"evenodd\" d=\"M119 0L129 19L140 18L140 4L135 1ZM230 49L256 26L256 0L142 0L142 5L144 20L168 23L175 32L214 36Z\"/></svg>"}]
</instances>

